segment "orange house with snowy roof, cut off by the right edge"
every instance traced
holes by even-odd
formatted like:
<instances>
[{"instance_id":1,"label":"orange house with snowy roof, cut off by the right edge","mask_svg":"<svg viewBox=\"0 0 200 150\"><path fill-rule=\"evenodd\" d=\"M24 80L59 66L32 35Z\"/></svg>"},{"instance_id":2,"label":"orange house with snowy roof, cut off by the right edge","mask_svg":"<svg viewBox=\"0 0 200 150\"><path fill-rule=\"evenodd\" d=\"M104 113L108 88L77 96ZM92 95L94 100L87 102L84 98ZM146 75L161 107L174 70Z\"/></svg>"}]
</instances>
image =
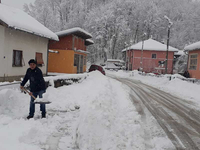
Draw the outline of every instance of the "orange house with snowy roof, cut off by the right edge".
<instances>
[{"instance_id":1,"label":"orange house with snowy roof, cut off by the right edge","mask_svg":"<svg viewBox=\"0 0 200 150\"><path fill-rule=\"evenodd\" d=\"M200 42L186 46L184 51L188 53L187 70L190 77L200 79Z\"/></svg>"}]
</instances>

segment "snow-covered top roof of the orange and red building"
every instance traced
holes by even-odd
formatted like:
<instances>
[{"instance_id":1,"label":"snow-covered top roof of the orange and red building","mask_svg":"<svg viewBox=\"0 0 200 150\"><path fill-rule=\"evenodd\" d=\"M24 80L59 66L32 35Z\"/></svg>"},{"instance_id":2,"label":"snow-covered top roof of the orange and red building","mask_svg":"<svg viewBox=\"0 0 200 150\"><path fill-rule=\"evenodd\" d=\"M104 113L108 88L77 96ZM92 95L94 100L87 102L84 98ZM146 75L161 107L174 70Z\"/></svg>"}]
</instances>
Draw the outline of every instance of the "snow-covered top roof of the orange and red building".
<instances>
[{"instance_id":1,"label":"snow-covered top roof of the orange and red building","mask_svg":"<svg viewBox=\"0 0 200 150\"><path fill-rule=\"evenodd\" d=\"M87 31L79 28L79 27L75 27L75 28L71 28L68 30L63 30L63 31L59 31L56 32L56 34L60 37L60 36L65 36L65 35L69 35L69 34L74 34L78 37L82 37L83 39L90 39L92 38L92 35L90 33L88 33Z\"/></svg>"}]
</instances>

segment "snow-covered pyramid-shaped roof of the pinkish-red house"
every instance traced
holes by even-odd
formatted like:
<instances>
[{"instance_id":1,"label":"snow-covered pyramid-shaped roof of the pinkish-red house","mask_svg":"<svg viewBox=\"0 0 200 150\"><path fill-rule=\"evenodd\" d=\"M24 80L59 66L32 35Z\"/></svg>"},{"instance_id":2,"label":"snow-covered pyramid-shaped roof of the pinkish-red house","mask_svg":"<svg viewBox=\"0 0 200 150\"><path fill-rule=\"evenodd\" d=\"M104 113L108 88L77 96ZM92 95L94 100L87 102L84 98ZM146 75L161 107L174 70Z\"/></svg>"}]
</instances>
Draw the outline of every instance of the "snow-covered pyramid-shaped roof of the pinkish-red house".
<instances>
[{"instance_id":1,"label":"snow-covered pyramid-shaped roof of the pinkish-red house","mask_svg":"<svg viewBox=\"0 0 200 150\"><path fill-rule=\"evenodd\" d=\"M127 51L127 50L142 50L142 41L134 44L124 50L122 50L122 52ZM167 50L167 45L162 44L156 40L153 39L148 39L144 41L143 44L143 50L153 50L153 51L166 51ZM178 49L169 46L169 51L178 51Z\"/></svg>"}]
</instances>

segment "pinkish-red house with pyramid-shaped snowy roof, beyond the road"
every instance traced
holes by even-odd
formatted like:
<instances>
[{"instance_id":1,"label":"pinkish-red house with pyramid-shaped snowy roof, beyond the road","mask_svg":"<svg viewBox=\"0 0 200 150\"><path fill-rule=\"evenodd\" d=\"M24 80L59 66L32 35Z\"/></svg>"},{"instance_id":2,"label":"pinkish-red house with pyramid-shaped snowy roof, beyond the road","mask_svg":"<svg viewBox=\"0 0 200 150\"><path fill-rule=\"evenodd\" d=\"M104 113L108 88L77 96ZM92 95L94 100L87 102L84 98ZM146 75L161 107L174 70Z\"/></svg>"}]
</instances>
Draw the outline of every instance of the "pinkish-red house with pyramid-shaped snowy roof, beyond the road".
<instances>
[{"instance_id":1,"label":"pinkish-red house with pyramid-shaped snowy roof, beyond the road","mask_svg":"<svg viewBox=\"0 0 200 150\"><path fill-rule=\"evenodd\" d=\"M167 73L173 73L174 52L178 49L169 46ZM148 39L134 44L122 52L126 53L126 68L142 70L146 73L165 73L167 45Z\"/></svg>"}]
</instances>

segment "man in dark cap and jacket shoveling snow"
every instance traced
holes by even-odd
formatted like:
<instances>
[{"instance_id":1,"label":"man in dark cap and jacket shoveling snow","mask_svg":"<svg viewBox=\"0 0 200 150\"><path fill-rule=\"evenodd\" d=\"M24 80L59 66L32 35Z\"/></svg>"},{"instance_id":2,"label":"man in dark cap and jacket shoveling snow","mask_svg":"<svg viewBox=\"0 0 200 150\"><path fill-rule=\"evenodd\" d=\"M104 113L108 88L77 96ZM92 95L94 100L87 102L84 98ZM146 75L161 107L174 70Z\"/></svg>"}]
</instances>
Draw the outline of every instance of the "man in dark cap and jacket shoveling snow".
<instances>
[{"instance_id":1,"label":"man in dark cap and jacket shoveling snow","mask_svg":"<svg viewBox=\"0 0 200 150\"><path fill-rule=\"evenodd\" d=\"M28 62L30 68L27 69L26 75L21 83L21 89L24 89L24 85L29 80L30 81L30 93L31 101L29 108L29 116L27 119L33 118L35 113L35 103L34 97L42 98L42 94L46 92L45 81L42 75L42 71L37 67L37 62L34 59ZM40 104L40 111L42 111L42 118L46 118L46 108L45 104Z\"/></svg>"}]
</instances>

